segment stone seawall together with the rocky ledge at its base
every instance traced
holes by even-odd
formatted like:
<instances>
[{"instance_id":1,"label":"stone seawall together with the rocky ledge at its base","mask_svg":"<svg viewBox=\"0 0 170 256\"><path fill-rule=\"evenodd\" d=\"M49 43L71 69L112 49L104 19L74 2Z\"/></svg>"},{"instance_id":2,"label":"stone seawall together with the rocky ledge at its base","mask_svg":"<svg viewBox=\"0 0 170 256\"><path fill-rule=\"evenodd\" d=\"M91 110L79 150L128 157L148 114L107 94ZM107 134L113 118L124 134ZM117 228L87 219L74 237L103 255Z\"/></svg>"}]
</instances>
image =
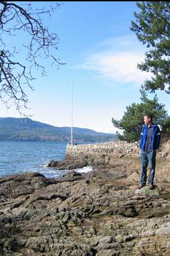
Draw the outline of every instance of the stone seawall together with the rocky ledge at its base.
<instances>
[{"instance_id":1,"label":"stone seawall together with the rocky ledge at its base","mask_svg":"<svg viewBox=\"0 0 170 256\"><path fill-rule=\"evenodd\" d=\"M63 161L52 160L48 167L57 170L73 170L91 165L94 168L115 167L115 159L139 157L138 143L112 141L86 145L67 145Z\"/></svg>"}]
</instances>

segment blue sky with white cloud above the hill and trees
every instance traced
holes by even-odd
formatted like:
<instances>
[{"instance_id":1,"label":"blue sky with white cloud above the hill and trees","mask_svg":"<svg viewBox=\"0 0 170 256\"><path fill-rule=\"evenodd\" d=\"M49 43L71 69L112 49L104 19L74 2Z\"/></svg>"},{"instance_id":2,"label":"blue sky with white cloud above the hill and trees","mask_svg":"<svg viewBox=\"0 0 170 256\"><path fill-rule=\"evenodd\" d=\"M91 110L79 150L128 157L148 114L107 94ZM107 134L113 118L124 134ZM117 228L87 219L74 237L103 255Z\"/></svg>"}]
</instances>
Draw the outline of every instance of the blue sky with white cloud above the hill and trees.
<instances>
[{"instance_id":1,"label":"blue sky with white cloud above the hill and trees","mask_svg":"<svg viewBox=\"0 0 170 256\"><path fill-rule=\"evenodd\" d=\"M32 2L34 7L53 4ZM134 1L65 1L51 18L44 18L49 31L59 36L55 56L65 65L57 69L46 60L47 76L34 72L25 114L57 127L71 126L73 118L74 127L115 133L111 119L121 119L126 106L141 102L140 85L150 77L137 68L147 49L130 30L134 11L140 11ZM22 35L7 39L19 56L23 40ZM170 114L169 95L157 91L157 96ZM21 116L15 105L7 109L0 102L0 117Z\"/></svg>"}]
</instances>

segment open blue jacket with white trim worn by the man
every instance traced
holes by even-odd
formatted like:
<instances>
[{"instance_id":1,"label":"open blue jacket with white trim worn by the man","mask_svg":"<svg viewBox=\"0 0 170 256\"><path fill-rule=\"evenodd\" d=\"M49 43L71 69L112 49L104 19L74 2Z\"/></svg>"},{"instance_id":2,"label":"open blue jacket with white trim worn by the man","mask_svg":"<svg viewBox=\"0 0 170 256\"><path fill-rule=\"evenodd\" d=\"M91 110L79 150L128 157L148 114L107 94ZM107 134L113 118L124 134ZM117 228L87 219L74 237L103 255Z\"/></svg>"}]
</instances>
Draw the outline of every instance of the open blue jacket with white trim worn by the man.
<instances>
[{"instance_id":1,"label":"open blue jacket with white trim worn by the man","mask_svg":"<svg viewBox=\"0 0 170 256\"><path fill-rule=\"evenodd\" d=\"M152 140L150 145L150 151L154 149L159 149L160 141L161 141L161 131L157 124L152 124ZM140 149L145 151L146 139L148 134L148 126L144 125L142 127L142 132L140 134Z\"/></svg>"}]
</instances>

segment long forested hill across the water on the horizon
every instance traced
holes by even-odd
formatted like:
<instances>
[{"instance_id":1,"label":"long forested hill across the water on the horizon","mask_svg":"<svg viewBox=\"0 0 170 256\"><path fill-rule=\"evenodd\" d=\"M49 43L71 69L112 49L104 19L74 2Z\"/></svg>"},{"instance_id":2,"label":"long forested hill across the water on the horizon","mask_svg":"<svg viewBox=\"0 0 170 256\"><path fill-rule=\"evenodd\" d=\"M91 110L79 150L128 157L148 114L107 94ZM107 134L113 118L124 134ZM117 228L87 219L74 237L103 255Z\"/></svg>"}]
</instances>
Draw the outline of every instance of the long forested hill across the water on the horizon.
<instances>
[{"instance_id":1,"label":"long forested hill across the water on the horizon","mask_svg":"<svg viewBox=\"0 0 170 256\"><path fill-rule=\"evenodd\" d=\"M55 127L30 118L0 118L0 140L70 141L70 127ZM115 134L73 128L75 142L105 142L117 140Z\"/></svg>"}]
</instances>

